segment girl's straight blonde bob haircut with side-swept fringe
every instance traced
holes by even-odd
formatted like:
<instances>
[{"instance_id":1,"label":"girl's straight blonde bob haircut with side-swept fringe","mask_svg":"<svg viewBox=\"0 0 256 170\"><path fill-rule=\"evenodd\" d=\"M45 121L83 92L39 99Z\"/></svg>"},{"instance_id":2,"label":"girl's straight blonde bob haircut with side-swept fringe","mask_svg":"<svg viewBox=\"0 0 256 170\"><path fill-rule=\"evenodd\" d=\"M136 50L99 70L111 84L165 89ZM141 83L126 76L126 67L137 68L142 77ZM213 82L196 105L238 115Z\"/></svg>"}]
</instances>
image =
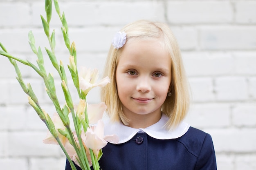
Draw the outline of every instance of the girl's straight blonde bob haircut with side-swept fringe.
<instances>
[{"instance_id":1,"label":"girl's straight blonde bob haircut with side-swept fringe","mask_svg":"<svg viewBox=\"0 0 256 170\"><path fill-rule=\"evenodd\" d=\"M169 117L166 123L166 129L174 130L186 117L190 104L190 91L182 63L180 48L172 31L164 23L148 20L133 22L126 25L120 31L126 33L126 43L131 39L162 40L164 49L168 51L171 57L171 84L169 91L172 95L166 97L161 111ZM122 47L119 49L115 49L113 46L110 47L103 73L103 77L108 76L110 78L110 83L101 89L101 100L108 107L107 113L111 121L121 120L124 125L128 125L129 120L122 111L122 104L118 97L116 83L116 69L122 49Z\"/></svg>"}]
</instances>

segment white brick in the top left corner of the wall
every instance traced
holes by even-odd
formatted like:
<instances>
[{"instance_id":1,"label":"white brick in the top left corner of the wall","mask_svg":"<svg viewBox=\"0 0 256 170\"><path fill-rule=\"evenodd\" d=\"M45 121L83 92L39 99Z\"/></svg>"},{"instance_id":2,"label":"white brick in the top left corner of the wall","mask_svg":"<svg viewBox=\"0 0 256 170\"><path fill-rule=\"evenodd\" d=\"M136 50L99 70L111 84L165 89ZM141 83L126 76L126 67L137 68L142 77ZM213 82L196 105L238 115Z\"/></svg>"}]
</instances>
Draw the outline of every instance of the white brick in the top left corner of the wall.
<instances>
[{"instance_id":1,"label":"white brick in the top left corner of the wall","mask_svg":"<svg viewBox=\"0 0 256 170\"><path fill-rule=\"evenodd\" d=\"M0 2L0 26L26 26L29 24L29 3Z\"/></svg>"}]
</instances>

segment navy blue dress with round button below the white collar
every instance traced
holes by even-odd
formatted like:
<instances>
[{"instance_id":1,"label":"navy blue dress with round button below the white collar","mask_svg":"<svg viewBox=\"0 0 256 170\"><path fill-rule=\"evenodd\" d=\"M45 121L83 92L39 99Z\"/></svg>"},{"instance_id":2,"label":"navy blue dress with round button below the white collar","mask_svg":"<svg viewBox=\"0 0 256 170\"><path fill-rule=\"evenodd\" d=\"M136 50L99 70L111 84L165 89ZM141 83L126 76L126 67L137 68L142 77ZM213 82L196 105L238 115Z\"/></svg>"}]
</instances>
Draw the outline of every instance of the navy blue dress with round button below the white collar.
<instances>
[{"instance_id":1,"label":"navy blue dress with round button below the white collar","mask_svg":"<svg viewBox=\"0 0 256 170\"><path fill-rule=\"evenodd\" d=\"M102 151L102 170L217 170L211 136L193 127L177 139L138 132L123 144L108 143ZM68 161L65 170L71 170Z\"/></svg>"}]
</instances>

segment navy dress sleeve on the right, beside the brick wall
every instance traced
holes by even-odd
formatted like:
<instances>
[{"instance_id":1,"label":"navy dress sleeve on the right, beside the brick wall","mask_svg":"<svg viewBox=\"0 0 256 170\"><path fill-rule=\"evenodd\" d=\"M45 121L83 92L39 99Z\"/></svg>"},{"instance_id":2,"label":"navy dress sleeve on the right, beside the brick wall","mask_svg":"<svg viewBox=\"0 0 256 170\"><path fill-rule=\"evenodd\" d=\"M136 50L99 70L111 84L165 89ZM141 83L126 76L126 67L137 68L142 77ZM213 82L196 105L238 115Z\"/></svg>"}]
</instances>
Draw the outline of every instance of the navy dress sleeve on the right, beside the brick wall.
<instances>
[{"instance_id":1,"label":"navy dress sleeve on the right, beside the brick wall","mask_svg":"<svg viewBox=\"0 0 256 170\"><path fill-rule=\"evenodd\" d=\"M195 170L217 170L213 141L209 134L204 138Z\"/></svg>"}]
</instances>

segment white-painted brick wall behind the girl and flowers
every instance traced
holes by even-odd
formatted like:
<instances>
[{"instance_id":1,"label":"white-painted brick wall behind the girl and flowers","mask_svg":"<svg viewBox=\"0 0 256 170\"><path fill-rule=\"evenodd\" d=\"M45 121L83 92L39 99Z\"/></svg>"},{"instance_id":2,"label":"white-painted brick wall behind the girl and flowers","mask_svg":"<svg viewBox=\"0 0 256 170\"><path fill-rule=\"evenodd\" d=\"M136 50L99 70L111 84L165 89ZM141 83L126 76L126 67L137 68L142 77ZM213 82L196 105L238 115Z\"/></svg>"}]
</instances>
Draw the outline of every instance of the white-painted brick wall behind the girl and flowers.
<instances>
[{"instance_id":1,"label":"white-painted brick wall behind the girl and flowers","mask_svg":"<svg viewBox=\"0 0 256 170\"><path fill-rule=\"evenodd\" d=\"M79 66L97 67L100 73L112 36L125 24L138 19L168 23L182 49L193 93L186 121L213 137L218 170L256 169L256 0L59 3L70 26L71 41L76 42ZM37 46L49 48L40 14L45 16L44 0L0 0L0 42L10 53L35 62L27 39L30 30ZM58 60L67 63L69 55L55 12L51 26L56 31ZM50 62L45 63L56 77ZM20 65L20 69L42 107L52 113L43 82L27 66ZM46 127L27 104L15 77L7 58L0 57L1 169L63 170L63 153L58 146L43 144ZM98 90L89 93L88 102L99 102Z\"/></svg>"}]
</instances>

